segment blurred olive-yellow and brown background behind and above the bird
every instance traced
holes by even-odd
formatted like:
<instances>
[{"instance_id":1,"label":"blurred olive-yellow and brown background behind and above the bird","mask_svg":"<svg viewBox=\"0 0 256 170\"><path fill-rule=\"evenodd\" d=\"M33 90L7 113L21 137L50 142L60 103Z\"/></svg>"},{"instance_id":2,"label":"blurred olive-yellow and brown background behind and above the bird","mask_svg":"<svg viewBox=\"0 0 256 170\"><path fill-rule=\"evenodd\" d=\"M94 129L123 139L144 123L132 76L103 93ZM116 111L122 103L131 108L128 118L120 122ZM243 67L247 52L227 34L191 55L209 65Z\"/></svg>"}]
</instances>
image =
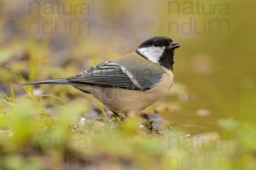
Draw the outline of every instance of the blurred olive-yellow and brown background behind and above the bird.
<instances>
[{"instance_id":1,"label":"blurred olive-yellow and brown background behind and above the bird","mask_svg":"<svg viewBox=\"0 0 256 170\"><path fill-rule=\"evenodd\" d=\"M15 98L26 98L23 82L70 77L130 53L148 37L172 37L182 45L175 54L173 87L146 112L159 113L185 133L230 139L223 127L256 118L255 5L249 0L1 0L0 94L11 96L12 82ZM70 87L36 87L34 94L84 102L90 114L98 108ZM49 112L61 105L41 102Z\"/></svg>"}]
</instances>

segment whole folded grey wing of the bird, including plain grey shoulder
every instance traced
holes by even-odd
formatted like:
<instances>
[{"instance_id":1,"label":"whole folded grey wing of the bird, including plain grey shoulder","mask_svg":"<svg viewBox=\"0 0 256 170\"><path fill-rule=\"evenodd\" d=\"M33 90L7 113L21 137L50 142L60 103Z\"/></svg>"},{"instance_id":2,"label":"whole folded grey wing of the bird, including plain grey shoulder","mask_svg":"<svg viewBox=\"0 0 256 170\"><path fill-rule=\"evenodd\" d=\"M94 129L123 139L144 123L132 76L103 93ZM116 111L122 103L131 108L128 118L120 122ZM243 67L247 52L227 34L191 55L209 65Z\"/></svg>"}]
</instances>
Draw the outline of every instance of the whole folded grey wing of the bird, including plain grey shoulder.
<instances>
[{"instance_id":1,"label":"whole folded grey wing of the bird, including plain grey shoulder","mask_svg":"<svg viewBox=\"0 0 256 170\"><path fill-rule=\"evenodd\" d=\"M137 68L144 68L143 70ZM147 91L160 82L164 71L157 66L133 59L123 58L122 62L107 61L83 71L68 82L87 83L103 87L125 88Z\"/></svg>"}]
</instances>

